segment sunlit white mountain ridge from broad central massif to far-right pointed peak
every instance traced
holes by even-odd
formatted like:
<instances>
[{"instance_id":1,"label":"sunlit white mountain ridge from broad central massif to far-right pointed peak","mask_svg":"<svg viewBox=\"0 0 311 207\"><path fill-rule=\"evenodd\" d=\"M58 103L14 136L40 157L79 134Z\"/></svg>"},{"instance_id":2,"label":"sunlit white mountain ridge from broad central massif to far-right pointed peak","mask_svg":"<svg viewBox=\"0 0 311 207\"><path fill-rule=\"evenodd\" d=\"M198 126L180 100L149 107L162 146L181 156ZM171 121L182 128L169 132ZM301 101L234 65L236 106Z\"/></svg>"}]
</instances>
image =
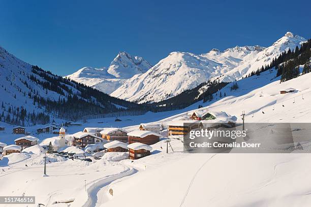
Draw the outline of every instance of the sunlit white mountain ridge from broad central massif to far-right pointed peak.
<instances>
[{"instance_id":1,"label":"sunlit white mountain ridge from broad central massif to far-right pointed peak","mask_svg":"<svg viewBox=\"0 0 311 207\"><path fill-rule=\"evenodd\" d=\"M287 32L268 48L244 46L206 54L172 52L144 74L125 81L112 96L137 102L157 102L192 89L209 79L232 82L269 64L284 50L294 49L304 38Z\"/></svg>"}]
</instances>

